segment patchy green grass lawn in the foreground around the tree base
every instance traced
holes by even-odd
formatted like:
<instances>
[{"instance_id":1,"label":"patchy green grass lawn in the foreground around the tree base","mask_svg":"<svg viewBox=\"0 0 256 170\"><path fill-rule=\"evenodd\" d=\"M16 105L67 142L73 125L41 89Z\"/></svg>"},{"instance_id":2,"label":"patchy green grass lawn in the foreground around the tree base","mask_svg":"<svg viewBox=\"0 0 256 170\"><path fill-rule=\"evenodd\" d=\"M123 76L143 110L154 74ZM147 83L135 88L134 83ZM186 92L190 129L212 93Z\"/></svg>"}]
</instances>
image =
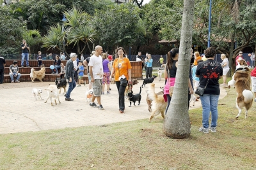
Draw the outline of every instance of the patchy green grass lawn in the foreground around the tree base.
<instances>
[{"instance_id":1,"label":"patchy green grass lawn in the foreground around the tree base","mask_svg":"<svg viewBox=\"0 0 256 170\"><path fill-rule=\"evenodd\" d=\"M227 93L219 102L216 133L198 131L198 108L189 111L186 139L164 136L160 117L152 123L1 134L0 169L256 169L256 103L248 118L243 110L236 119L236 92Z\"/></svg>"}]
</instances>

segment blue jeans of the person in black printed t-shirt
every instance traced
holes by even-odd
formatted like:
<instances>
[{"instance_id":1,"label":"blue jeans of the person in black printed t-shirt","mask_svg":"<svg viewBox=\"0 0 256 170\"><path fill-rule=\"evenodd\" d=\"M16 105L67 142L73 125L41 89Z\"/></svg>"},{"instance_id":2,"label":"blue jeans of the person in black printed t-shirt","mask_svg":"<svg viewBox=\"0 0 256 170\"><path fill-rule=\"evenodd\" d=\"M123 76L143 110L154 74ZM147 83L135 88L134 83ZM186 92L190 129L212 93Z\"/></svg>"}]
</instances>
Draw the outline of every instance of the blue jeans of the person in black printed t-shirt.
<instances>
[{"instance_id":1,"label":"blue jeans of the person in black printed t-shirt","mask_svg":"<svg viewBox=\"0 0 256 170\"><path fill-rule=\"evenodd\" d=\"M218 100L220 95L213 94L204 94L204 96L200 96L202 108L203 108L203 126L204 128L209 127L209 116L210 111L212 114L212 122L211 127L217 126L218 120Z\"/></svg>"}]
</instances>

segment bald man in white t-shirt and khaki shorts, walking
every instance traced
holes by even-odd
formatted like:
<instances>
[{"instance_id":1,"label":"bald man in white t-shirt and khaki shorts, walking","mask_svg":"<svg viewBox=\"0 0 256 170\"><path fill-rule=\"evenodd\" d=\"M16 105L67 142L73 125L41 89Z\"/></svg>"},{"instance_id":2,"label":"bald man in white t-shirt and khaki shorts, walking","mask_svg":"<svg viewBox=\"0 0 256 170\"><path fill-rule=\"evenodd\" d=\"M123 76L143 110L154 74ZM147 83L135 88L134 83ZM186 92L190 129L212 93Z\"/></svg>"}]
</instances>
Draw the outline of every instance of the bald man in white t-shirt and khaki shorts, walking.
<instances>
[{"instance_id":1,"label":"bald man in white t-shirt and khaki shorts, walking","mask_svg":"<svg viewBox=\"0 0 256 170\"><path fill-rule=\"evenodd\" d=\"M103 78L103 65L102 65L102 46L95 46L95 54L90 57L89 73L92 77L92 88L93 88L93 96L92 103L90 106L93 108L99 108L99 110L104 110L103 106L100 103L100 96L102 94L102 78ZM97 106L94 101L97 99L99 106Z\"/></svg>"}]
</instances>

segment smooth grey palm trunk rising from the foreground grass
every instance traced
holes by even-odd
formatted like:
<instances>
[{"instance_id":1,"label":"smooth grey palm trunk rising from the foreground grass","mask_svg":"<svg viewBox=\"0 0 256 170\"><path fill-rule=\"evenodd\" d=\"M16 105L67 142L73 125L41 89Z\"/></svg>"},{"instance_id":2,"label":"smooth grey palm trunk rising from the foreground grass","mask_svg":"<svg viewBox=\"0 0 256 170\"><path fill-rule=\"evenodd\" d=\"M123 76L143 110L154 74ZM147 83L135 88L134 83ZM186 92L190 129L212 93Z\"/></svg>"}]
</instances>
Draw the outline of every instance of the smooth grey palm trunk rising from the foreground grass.
<instances>
[{"instance_id":1,"label":"smooth grey palm trunk rising from the foreground grass","mask_svg":"<svg viewBox=\"0 0 256 170\"><path fill-rule=\"evenodd\" d=\"M179 60L172 101L164 118L163 133L172 138L188 138L188 79L193 33L194 0L185 0L180 36Z\"/></svg>"}]
</instances>

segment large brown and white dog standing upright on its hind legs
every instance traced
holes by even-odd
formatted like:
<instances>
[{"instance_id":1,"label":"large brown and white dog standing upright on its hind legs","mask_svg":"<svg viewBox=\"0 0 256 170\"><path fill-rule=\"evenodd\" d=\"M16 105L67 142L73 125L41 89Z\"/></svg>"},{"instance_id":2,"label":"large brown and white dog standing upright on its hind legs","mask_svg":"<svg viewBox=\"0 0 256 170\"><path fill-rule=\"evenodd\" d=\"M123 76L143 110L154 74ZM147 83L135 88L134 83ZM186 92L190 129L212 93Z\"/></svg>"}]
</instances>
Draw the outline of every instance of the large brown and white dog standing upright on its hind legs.
<instances>
[{"instance_id":1,"label":"large brown and white dog standing upright on its hind legs","mask_svg":"<svg viewBox=\"0 0 256 170\"><path fill-rule=\"evenodd\" d=\"M245 118L247 117L248 110L252 107L253 103L253 92L251 91L251 76L250 69L245 60L240 60L239 66L236 69L236 73L232 76L232 80L228 81L228 89L230 86L234 85L237 97L236 97L236 107L238 109L239 117L241 110L245 107Z\"/></svg>"}]
</instances>

